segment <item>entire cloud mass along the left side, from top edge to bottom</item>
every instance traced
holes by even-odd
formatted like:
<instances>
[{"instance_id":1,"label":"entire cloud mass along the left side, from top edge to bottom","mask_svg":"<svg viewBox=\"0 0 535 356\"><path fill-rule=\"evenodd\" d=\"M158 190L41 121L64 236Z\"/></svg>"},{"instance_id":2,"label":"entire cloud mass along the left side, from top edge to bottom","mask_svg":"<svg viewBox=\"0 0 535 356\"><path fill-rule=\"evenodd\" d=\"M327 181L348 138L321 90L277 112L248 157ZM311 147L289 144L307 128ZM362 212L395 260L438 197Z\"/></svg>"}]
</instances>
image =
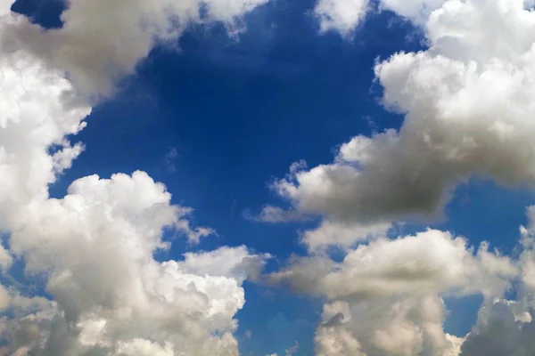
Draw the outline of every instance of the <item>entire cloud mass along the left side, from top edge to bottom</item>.
<instances>
[{"instance_id":1,"label":"entire cloud mass along the left side, from top edge to bottom","mask_svg":"<svg viewBox=\"0 0 535 356\"><path fill-rule=\"evenodd\" d=\"M221 247L156 261L169 248L165 231L192 244L214 231L192 227L192 210L173 205L144 172L87 176L64 198L48 193L84 150L68 139L91 111L80 90L102 91L132 70L175 31L173 17L235 23L261 2L203 2L202 19L199 2L164 3L71 1L64 27L43 30L0 2L0 231L9 236L0 268L8 273L16 257L52 297L5 279L2 355L238 354L243 281L259 275L267 255Z\"/></svg>"}]
</instances>

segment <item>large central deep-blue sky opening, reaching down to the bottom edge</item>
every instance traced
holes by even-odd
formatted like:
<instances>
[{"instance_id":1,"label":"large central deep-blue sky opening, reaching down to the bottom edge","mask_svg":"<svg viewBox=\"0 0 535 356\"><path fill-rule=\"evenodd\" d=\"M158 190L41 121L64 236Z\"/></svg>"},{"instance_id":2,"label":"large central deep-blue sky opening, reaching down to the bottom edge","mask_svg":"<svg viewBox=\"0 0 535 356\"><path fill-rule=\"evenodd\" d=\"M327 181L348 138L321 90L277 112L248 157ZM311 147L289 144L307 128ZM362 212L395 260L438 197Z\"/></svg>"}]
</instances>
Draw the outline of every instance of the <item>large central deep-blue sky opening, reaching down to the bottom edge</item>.
<instances>
[{"instance_id":1,"label":"large central deep-blue sky opening, reaching down to the bottom edge","mask_svg":"<svg viewBox=\"0 0 535 356\"><path fill-rule=\"evenodd\" d=\"M353 40L318 36L306 14L313 5L268 4L247 17L238 42L221 28L196 28L181 37L180 53L153 50L121 93L88 118L92 125L78 135L86 152L53 191L62 196L62 182L88 174L142 169L176 203L194 206L195 223L218 231L193 250L244 244L276 255L274 269L303 254L302 224L250 222L243 212L279 202L267 185L292 162L329 162L351 136L399 126L400 117L378 102L372 68L377 56L419 47L405 38L415 28L391 13L373 16ZM174 149L177 157L166 158ZM174 240L165 257L186 249ZM295 341L296 354L313 353L318 301L256 284L245 293L238 314L244 355L284 353Z\"/></svg>"}]
</instances>

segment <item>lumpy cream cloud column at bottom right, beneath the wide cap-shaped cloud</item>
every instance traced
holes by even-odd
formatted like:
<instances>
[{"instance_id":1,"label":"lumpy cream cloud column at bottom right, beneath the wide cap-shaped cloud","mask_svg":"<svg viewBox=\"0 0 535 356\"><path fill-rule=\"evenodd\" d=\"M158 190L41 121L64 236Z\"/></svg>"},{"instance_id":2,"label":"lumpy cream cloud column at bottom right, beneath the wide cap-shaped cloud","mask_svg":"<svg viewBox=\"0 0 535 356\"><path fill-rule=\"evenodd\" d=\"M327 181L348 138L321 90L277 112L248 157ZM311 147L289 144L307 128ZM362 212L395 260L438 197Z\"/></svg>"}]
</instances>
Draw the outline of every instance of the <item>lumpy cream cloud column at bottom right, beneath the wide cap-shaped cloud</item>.
<instances>
[{"instance_id":1,"label":"lumpy cream cloud column at bottom right, beneath the wide cap-shaped cloud","mask_svg":"<svg viewBox=\"0 0 535 356\"><path fill-rule=\"evenodd\" d=\"M437 296L325 304L316 352L321 356L454 356L461 340L444 333L444 316L444 304Z\"/></svg>"}]
</instances>

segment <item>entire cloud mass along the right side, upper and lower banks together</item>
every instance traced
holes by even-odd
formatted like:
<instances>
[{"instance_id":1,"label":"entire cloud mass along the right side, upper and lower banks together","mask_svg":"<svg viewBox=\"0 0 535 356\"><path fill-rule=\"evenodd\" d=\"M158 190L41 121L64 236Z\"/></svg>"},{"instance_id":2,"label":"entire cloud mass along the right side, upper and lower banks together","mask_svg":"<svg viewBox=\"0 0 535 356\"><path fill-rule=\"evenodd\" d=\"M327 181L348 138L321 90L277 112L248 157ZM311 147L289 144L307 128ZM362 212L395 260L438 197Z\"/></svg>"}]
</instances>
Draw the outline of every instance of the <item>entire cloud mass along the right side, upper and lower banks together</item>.
<instances>
[{"instance_id":1,"label":"entire cloud mass along the right side, upper and lower banks together","mask_svg":"<svg viewBox=\"0 0 535 356\"><path fill-rule=\"evenodd\" d=\"M485 243L474 251L442 231L385 237L396 223L440 217L457 185L473 176L535 185L532 6L523 0L379 2L422 28L429 45L374 68L384 107L404 115L403 124L353 137L331 164L294 164L273 184L291 202L291 214L323 219L301 236L310 255L293 257L270 276L325 298L318 355L535 352L533 216L522 228L518 260ZM323 23L342 34L350 28L350 22ZM358 20L351 23L354 28ZM325 253L330 246L345 250L342 262ZM518 298L508 301L513 285ZM442 298L473 294L484 303L472 332L445 333Z\"/></svg>"}]
</instances>

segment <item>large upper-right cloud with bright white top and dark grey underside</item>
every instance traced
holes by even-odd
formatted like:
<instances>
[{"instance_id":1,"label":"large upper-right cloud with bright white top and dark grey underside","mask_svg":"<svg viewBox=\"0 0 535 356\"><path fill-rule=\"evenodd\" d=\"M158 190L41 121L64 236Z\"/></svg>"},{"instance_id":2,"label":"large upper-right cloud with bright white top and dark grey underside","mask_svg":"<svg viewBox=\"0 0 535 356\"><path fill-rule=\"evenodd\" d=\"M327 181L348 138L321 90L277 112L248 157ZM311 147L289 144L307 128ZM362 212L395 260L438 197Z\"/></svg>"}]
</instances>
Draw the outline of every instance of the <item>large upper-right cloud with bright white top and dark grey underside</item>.
<instances>
[{"instance_id":1,"label":"large upper-right cloud with bright white top and dark grey underside","mask_svg":"<svg viewBox=\"0 0 535 356\"><path fill-rule=\"evenodd\" d=\"M384 107L403 114L403 124L353 137L330 164L292 166L272 188L302 214L366 227L439 218L473 176L533 186L535 37L526 34L535 33L535 12L520 0L383 5L412 20L427 16L429 49L374 68Z\"/></svg>"}]
</instances>

